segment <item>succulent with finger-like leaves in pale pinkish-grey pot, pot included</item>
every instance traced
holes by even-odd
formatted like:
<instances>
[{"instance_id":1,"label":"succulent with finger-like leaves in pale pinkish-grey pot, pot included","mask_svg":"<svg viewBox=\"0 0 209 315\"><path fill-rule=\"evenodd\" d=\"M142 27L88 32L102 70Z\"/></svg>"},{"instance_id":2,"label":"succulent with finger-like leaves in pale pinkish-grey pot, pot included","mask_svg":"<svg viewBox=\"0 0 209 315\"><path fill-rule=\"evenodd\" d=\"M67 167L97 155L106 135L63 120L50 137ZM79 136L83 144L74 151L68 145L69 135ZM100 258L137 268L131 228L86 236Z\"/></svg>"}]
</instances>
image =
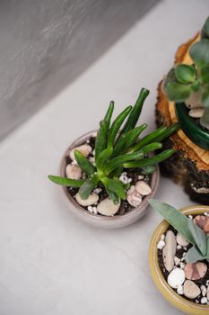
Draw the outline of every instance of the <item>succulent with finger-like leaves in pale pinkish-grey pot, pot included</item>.
<instances>
[{"instance_id":1,"label":"succulent with finger-like leaves in pale pinkish-grey pot, pot included","mask_svg":"<svg viewBox=\"0 0 209 315\"><path fill-rule=\"evenodd\" d=\"M117 228L138 220L148 205L147 197L156 191L157 164L174 152L168 148L152 156L177 125L139 139L147 124L135 125L148 94L142 88L135 106L127 106L112 123L114 102L110 102L100 130L76 139L66 150L61 176L48 175L63 186L71 211L92 225Z\"/></svg>"}]
</instances>

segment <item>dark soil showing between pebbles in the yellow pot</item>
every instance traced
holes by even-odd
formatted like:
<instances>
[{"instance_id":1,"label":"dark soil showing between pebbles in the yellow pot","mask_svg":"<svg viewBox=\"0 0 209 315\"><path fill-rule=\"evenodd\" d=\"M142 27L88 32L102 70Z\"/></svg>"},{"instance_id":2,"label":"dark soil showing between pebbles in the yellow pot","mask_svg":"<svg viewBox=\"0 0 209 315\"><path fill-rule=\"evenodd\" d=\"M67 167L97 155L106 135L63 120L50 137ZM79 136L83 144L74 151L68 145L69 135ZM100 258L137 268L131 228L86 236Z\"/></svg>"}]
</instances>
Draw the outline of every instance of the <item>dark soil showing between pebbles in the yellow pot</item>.
<instances>
[{"instance_id":1,"label":"dark soil showing between pebbles in the yellow pot","mask_svg":"<svg viewBox=\"0 0 209 315\"><path fill-rule=\"evenodd\" d=\"M172 227L170 227L169 229L172 230L175 235L177 235L176 229L173 229ZM192 247L192 245L189 244L187 246L187 250L190 247ZM183 257L183 253L187 252L187 250L185 250L184 248L186 248L186 247L181 247L180 249L177 248L176 257L178 257L179 259L181 259ZM205 277L202 279L199 279L199 280L192 280L194 283L196 283L199 286L199 288L201 287L201 285L206 286L206 282L209 280L209 262L207 260L203 260L202 262L205 263L205 265L207 266L207 273L205 274ZM161 268L161 273L167 282L167 279L168 279L168 276L170 273L164 267L161 249L158 249L158 263L159 263L159 266ZM183 260L182 263L186 264L186 261ZM172 290L177 293L177 290L175 290L175 289L172 289ZM196 303L200 303L200 300L203 297L202 294L200 294L195 300L191 300L191 299L188 299L185 295L180 295L180 296L184 297L187 301L196 302Z\"/></svg>"}]
</instances>

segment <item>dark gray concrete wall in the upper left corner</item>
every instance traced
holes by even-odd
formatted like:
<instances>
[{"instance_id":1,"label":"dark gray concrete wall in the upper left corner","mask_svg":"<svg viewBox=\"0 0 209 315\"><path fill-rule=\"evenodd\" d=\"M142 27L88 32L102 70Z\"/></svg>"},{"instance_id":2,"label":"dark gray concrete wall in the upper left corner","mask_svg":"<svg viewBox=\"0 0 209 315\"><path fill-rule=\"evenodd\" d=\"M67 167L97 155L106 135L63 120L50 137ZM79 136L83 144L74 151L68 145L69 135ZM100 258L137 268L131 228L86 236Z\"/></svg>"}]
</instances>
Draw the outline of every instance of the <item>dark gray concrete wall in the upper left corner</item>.
<instances>
[{"instance_id":1,"label":"dark gray concrete wall in the upper left corner","mask_svg":"<svg viewBox=\"0 0 209 315\"><path fill-rule=\"evenodd\" d=\"M0 1L0 139L68 85L154 3Z\"/></svg>"}]
</instances>

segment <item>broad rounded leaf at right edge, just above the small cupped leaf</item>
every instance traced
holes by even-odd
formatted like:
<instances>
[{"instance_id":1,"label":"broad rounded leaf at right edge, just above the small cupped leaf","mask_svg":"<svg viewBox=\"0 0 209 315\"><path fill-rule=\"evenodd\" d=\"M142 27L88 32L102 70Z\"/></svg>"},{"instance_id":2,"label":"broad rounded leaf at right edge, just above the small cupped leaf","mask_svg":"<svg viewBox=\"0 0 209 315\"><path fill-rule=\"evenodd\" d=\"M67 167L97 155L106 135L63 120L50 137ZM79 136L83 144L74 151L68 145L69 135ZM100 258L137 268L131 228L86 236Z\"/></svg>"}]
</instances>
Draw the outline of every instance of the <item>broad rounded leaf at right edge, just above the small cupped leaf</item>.
<instances>
[{"instance_id":1,"label":"broad rounded leaf at right edge, just above the small cupped leaf","mask_svg":"<svg viewBox=\"0 0 209 315\"><path fill-rule=\"evenodd\" d=\"M209 65L209 40L203 39L197 41L189 49L191 58L195 61L197 67L205 67Z\"/></svg>"}]
</instances>

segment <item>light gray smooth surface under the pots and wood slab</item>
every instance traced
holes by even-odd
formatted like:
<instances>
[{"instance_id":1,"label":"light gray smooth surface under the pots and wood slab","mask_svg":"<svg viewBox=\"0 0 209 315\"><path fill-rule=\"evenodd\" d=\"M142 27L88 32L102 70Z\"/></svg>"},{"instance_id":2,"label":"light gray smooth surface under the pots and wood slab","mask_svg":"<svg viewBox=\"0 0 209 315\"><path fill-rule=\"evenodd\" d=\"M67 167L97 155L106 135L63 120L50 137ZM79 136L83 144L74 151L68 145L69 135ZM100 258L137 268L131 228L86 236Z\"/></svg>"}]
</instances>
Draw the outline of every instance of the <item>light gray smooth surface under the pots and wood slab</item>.
<instances>
[{"instance_id":1,"label":"light gray smooth surface under the pots and wood slab","mask_svg":"<svg viewBox=\"0 0 209 315\"><path fill-rule=\"evenodd\" d=\"M208 12L208 0L159 4L0 144L1 315L180 314L163 300L149 273L158 213L150 209L125 229L92 229L68 211L61 189L47 175L57 174L75 138L98 127L109 100L116 101L118 113L134 103L141 86L151 89L141 121L154 128L158 82ZM165 178L156 198L177 207L191 204Z\"/></svg>"}]
</instances>

